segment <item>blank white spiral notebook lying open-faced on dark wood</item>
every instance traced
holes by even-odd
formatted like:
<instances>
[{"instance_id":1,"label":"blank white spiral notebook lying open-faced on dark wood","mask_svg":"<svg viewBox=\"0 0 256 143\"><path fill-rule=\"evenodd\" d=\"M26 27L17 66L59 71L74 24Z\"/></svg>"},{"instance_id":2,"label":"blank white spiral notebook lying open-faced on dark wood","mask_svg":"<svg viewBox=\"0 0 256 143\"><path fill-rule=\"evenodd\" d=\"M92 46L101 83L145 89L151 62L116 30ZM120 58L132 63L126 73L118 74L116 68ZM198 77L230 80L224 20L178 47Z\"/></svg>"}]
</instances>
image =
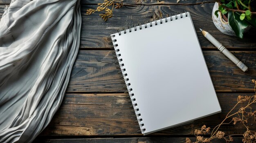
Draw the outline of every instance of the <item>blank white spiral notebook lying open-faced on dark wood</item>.
<instances>
[{"instance_id":1,"label":"blank white spiral notebook lying open-faced on dark wood","mask_svg":"<svg viewBox=\"0 0 256 143\"><path fill-rule=\"evenodd\" d=\"M108 37L142 134L221 112L189 12Z\"/></svg>"}]
</instances>

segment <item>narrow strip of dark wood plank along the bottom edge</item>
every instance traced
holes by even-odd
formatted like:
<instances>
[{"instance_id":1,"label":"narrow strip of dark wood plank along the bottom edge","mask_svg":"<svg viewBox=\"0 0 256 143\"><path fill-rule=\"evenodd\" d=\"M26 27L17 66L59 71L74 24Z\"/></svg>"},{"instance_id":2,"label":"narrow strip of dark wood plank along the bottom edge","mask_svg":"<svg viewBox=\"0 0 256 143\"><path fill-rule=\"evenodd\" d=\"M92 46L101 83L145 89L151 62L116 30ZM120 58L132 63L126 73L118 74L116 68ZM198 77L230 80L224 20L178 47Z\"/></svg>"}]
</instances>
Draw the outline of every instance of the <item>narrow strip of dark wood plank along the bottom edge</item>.
<instances>
[{"instance_id":1,"label":"narrow strip of dark wood plank along the bottom edge","mask_svg":"<svg viewBox=\"0 0 256 143\"><path fill-rule=\"evenodd\" d=\"M195 141L195 137L190 138ZM235 137L234 143L241 143L242 137ZM140 137L140 138L92 138L92 139L41 139L37 138L34 143L185 143L186 137ZM212 143L226 143L221 139L215 139Z\"/></svg>"}]
</instances>

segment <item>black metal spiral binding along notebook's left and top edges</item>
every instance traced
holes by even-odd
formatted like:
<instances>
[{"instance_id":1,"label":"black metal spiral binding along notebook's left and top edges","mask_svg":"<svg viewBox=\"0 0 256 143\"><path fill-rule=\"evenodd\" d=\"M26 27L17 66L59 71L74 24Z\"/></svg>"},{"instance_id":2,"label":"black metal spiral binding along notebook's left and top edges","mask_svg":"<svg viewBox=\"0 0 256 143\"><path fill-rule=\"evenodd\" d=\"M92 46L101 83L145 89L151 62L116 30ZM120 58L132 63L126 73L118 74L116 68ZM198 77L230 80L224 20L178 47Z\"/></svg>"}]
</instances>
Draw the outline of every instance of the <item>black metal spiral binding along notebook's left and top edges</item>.
<instances>
[{"instance_id":1,"label":"black metal spiral binding along notebook's left and top edges","mask_svg":"<svg viewBox=\"0 0 256 143\"><path fill-rule=\"evenodd\" d=\"M174 15L169 15L169 17L166 17L166 16L164 16L164 18L158 18L157 20L159 20L160 21L160 23L159 24L163 24L163 20L164 20L164 22L168 22L168 21L173 21L173 18L172 18L172 16L175 16L175 20L177 20L178 19L178 15L180 15L179 17L180 18L183 18L183 15L182 15L182 13L181 12L179 12L178 14L174 14ZM188 16L188 13L185 11L185 16L187 17ZM157 25L158 23L157 23L157 20L154 20L154 22L155 22L155 25ZM158 21L158 22L159 22ZM126 32L126 30L129 30L129 33L130 32L132 32L132 29L134 29L134 31L137 31L137 26L139 26L139 30L141 30L141 29L146 29L146 28L148 28L148 24L149 24L149 26L150 27L152 27L153 25L152 25L152 21L151 20L149 20L148 21L148 23L147 22L144 22L143 23L143 25L141 24L141 23L139 23L139 24L133 24L133 27L131 27L131 26L128 26L128 29L125 29L124 27L122 28L123 29L123 31L120 31L119 29L117 30L117 33L118 33L118 35L121 35L121 34L126 34L127 32ZM131 112L135 112L135 115L133 115L132 117L136 117L137 119L136 120L134 120L135 122L139 122L139 125L136 125L135 127L139 127L140 129L139 130L137 130L137 132L143 132L143 131L145 131L146 129L144 128L144 123L142 122L143 121L143 119L142 118L140 118L140 116L141 116L141 114L138 112L139 111L139 108L137 108L137 103L136 103L136 98L134 98L134 93L132 93L132 88L131 88L131 84L129 83L129 79L127 78L127 73L124 73L125 71L126 71L126 69L125 69L125 65L124 64L121 64L120 62L122 62L123 61L123 59L121 58L121 54L119 53L119 49L118 48L116 48L117 46L118 46L118 44L116 44L116 42L117 42L117 40L116 39L113 39L115 37L115 35L111 35L111 36L109 36L107 39L108 39L108 44L110 45L110 48L112 49L112 50L114 50L113 52L112 52L112 54L113 55L115 55L115 56L113 56L113 59L117 59L116 61L115 61L115 64L118 64L117 66L116 66L116 68L119 68L120 70L118 70L118 74L121 74L121 76L120 76L120 79L123 79L123 80L121 80L121 83L125 83L125 85L123 86L123 88L126 88L127 90L124 92L124 93L128 93L129 95L128 96L126 96L127 98L130 98L130 100L129 100L129 102L132 102L132 105L131 106L129 106L129 107L133 107L134 108L134 110L132 110Z\"/></svg>"}]
</instances>

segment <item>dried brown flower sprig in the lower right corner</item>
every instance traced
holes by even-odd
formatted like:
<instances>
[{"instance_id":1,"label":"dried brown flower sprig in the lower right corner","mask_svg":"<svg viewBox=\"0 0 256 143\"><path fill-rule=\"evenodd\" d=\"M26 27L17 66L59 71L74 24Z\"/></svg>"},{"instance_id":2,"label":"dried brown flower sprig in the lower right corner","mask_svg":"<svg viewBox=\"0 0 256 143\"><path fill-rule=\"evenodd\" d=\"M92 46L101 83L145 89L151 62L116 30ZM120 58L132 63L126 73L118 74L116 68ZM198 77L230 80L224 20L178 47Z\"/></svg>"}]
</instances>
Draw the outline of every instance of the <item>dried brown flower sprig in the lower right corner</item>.
<instances>
[{"instance_id":1,"label":"dried brown flower sprig in the lower right corner","mask_svg":"<svg viewBox=\"0 0 256 143\"><path fill-rule=\"evenodd\" d=\"M230 143L234 141L233 137L234 135L241 135L243 136L243 143L254 143L256 142L256 132L249 130L249 126L245 125L245 123L248 123L249 117L254 117L254 121L256 120L256 110L253 111L252 104L256 103L256 80L252 80L252 82L255 84L254 86L254 92L255 95L253 96L241 96L239 95L237 97L237 103L236 105L227 113L225 119L217 125L215 128L213 128L213 131L211 132L211 136L209 138L204 138L202 135L207 134L210 132L210 128L206 128L206 125L203 125L201 130L195 130L194 134L196 136L196 141L194 143L210 143L213 139L225 139L227 143ZM238 110L236 108L238 105L245 104ZM235 111L236 110L236 111ZM231 114L231 112L234 112ZM234 117L236 116L236 117ZM230 122L225 122L227 119L232 118ZM245 127L246 131L244 134L232 134L225 136L225 132L222 132L219 130L221 125L224 124L230 124L233 123L236 125L237 123L242 123L242 125ZM186 143L192 143L192 141L189 138L186 138Z\"/></svg>"}]
</instances>

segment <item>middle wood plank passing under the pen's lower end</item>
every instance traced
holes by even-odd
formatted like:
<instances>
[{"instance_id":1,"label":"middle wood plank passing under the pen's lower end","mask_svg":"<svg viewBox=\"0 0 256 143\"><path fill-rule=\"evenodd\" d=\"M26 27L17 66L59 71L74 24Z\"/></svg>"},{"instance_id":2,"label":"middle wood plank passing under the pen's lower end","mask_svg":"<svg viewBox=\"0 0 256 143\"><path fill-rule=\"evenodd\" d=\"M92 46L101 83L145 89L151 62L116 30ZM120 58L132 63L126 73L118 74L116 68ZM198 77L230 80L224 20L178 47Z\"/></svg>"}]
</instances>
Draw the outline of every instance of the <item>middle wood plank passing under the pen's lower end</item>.
<instances>
[{"instance_id":1,"label":"middle wood plank passing under the pen's lower end","mask_svg":"<svg viewBox=\"0 0 256 143\"><path fill-rule=\"evenodd\" d=\"M254 92L256 52L232 52L249 67L245 73L220 51L203 53L217 92ZM112 56L112 51L79 51L67 92L124 92Z\"/></svg>"}]
</instances>

